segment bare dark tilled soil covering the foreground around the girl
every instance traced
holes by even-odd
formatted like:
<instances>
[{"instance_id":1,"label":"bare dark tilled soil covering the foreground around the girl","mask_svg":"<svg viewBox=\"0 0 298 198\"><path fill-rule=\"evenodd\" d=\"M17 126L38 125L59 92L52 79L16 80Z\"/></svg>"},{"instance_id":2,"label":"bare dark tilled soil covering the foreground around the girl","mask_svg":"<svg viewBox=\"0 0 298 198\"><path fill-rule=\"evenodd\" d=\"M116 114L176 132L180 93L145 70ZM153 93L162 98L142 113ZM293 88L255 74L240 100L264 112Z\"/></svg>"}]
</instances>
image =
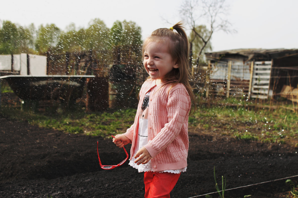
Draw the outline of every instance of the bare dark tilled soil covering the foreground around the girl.
<instances>
[{"instance_id":1,"label":"bare dark tilled soil covering the foreground around the girl","mask_svg":"<svg viewBox=\"0 0 298 198\"><path fill-rule=\"evenodd\" d=\"M214 167L220 188L221 176L226 177L226 189L298 175L297 148L212 136L195 129L190 129L189 137L187 172L181 174L172 198L216 191ZM143 174L128 161L113 170L100 168L97 141L103 164L125 158L123 149L111 139L66 134L0 116L0 197L144 197ZM229 190L225 197L280 197L290 190L285 180Z\"/></svg>"}]
</instances>

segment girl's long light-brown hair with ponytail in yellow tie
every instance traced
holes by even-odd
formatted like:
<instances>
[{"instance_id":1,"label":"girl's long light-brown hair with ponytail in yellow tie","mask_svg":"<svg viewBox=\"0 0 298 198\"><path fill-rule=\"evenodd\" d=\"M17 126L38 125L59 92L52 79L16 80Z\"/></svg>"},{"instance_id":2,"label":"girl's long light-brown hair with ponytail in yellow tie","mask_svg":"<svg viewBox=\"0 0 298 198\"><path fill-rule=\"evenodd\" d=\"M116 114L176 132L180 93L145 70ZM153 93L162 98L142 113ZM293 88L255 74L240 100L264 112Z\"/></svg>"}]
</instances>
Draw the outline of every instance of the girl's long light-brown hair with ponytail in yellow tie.
<instances>
[{"instance_id":1,"label":"girl's long light-brown hair with ponytail in yellow tie","mask_svg":"<svg viewBox=\"0 0 298 198\"><path fill-rule=\"evenodd\" d=\"M177 32L173 31L176 30ZM187 89L190 98L195 104L195 97L193 94L193 88L191 87L189 80L190 80L190 71L189 71L189 42L187 39L187 35L184 31L184 27L182 23L176 23L171 28L159 28L152 32L152 34L145 39L142 47L142 54L144 57L144 51L148 43L150 42L168 42L169 39L169 50L170 54L178 64L178 68L173 68L172 71L167 73L164 78L164 85L171 85L171 87L177 85L178 83L184 84L185 88ZM148 77L149 79L150 77ZM194 105L195 110L195 105ZM194 111L193 110L193 111ZM192 110L190 111L193 112Z\"/></svg>"}]
</instances>

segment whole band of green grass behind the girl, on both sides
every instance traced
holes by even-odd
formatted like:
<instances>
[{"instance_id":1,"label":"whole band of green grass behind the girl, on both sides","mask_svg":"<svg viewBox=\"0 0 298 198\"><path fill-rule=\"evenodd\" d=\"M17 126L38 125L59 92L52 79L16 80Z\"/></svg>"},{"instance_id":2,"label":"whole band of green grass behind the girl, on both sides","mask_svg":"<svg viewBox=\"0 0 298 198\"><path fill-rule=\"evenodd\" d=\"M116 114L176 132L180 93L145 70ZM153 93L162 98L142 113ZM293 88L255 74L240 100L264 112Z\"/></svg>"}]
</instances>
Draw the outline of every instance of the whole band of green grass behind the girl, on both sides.
<instances>
[{"instance_id":1,"label":"whole band of green grass behind the girl, on both sides","mask_svg":"<svg viewBox=\"0 0 298 198\"><path fill-rule=\"evenodd\" d=\"M253 107L252 105L260 105L254 100L229 98L212 102L212 104L208 101L198 103L197 111L189 117L189 127L192 131L211 135L216 133L241 140L289 143L298 146L298 114L285 108L286 105L279 104L272 110L266 106ZM67 133L85 133L103 137L125 132L134 121L136 109L91 113L86 113L83 109L58 113L53 110L46 112L33 113L9 107L1 109L1 113L5 116L25 120L32 125Z\"/></svg>"}]
</instances>

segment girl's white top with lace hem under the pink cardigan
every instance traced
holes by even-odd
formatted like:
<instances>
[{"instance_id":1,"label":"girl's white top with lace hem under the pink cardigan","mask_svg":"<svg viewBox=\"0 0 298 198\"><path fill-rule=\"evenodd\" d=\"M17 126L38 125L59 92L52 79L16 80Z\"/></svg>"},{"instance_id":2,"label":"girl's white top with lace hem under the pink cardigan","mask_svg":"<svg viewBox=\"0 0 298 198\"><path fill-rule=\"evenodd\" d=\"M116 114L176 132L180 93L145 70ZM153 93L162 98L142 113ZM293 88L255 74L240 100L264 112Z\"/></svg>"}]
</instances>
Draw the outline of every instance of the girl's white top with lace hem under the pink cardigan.
<instances>
[{"instance_id":1,"label":"girl's white top with lace hem under the pink cardigan","mask_svg":"<svg viewBox=\"0 0 298 198\"><path fill-rule=\"evenodd\" d=\"M145 98L143 100L142 104L142 110L140 112L139 116L139 129L138 129L138 137L136 138L136 144L134 147L134 156L136 155L136 152L142 148L144 145L148 143L148 109L147 107L149 106L149 96L150 96L150 91L146 93ZM136 159L134 157L131 158L129 165L132 167L138 169L139 172L148 172L152 171L152 166L151 166L151 160L147 164L140 164L137 165L134 163ZM185 172L187 167L184 167L179 170L164 170L164 171L159 171L159 172L170 172L170 173L180 173L180 172Z\"/></svg>"}]
</instances>

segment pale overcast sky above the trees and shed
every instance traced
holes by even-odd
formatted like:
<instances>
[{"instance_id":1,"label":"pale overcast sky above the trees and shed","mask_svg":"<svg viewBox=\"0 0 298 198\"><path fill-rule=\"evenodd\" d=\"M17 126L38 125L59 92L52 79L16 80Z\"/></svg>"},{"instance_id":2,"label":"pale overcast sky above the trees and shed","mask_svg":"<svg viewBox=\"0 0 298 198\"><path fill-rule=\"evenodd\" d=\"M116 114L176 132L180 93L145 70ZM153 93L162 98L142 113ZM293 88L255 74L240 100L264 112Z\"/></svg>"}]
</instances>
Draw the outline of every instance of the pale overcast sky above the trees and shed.
<instances>
[{"instance_id":1,"label":"pale overcast sky above the trees and shed","mask_svg":"<svg viewBox=\"0 0 298 198\"><path fill-rule=\"evenodd\" d=\"M181 20L179 10L185 0L1 0L0 22L10 20L21 26L54 23L64 30L70 23L88 27L99 18L111 28L116 20L134 21L147 37L157 28ZM297 0L226 0L234 34L215 32L213 51L238 48L298 48ZM170 22L171 24L167 23ZM200 24L199 22L197 24Z\"/></svg>"}]
</instances>

